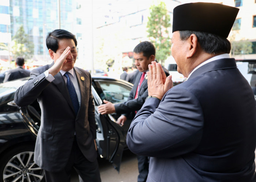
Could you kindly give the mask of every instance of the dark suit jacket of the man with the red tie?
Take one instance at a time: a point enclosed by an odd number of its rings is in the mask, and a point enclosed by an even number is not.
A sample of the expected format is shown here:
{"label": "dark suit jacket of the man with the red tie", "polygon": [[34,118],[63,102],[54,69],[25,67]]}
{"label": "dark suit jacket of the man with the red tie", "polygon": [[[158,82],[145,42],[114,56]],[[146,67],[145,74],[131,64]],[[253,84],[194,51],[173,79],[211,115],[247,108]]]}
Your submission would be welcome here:
{"label": "dark suit jacket of the man with the red tie", "polygon": [[[169,76],[169,71],[165,67],[162,67],[162,68],[165,71],[166,76]],[[135,111],[140,110],[140,108],[143,106],[143,103],[145,102],[145,99],[148,96],[147,79],[143,80],[139,88],[138,98],[134,99],[138,84],[140,82],[141,75],[142,75],[142,72],[136,71],[136,75],[134,75],[134,78],[133,78],[134,85],[132,87],[132,90],[129,94],[127,101],[114,105],[117,114],[125,114],[125,116],[128,117],[129,114],[132,112],[132,116],[134,117]]]}

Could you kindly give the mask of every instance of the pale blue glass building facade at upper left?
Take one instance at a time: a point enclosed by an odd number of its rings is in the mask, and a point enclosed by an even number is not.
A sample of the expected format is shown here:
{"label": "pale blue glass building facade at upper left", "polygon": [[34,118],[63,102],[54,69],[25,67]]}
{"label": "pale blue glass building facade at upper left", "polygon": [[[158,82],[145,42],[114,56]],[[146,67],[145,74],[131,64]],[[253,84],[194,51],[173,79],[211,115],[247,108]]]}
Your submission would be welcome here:
{"label": "pale blue glass building facade at upper left", "polygon": [[[77,1],[60,1],[60,22],[58,13],[59,0],[7,0],[0,3],[0,19],[8,15],[10,24],[0,21],[0,32],[15,35],[21,25],[34,44],[34,55],[48,52],[45,46],[47,33],[54,29],[66,29],[74,34],[77,22]],[[81,23],[81,22],[80,22]],[[1,41],[0,42],[4,42]],[[48,53],[47,53],[48,54]]]}

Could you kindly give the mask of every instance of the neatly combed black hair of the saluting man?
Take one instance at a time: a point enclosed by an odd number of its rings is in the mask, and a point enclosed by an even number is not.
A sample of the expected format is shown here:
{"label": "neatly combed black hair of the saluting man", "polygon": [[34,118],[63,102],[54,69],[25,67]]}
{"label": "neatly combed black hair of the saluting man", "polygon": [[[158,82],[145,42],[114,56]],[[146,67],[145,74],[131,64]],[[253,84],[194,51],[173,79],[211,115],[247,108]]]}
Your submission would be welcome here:
{"label": "neatly combed black hair of the saluting man", "polygon": [[59,48],[59,40],[61,39],[73,39],[75,42],[75,46],[77,46],[76,36],[66,30],[63,29],[56,29],[52,32],[49,32],[46,37],[46,46],[51,49],[53,52]]}

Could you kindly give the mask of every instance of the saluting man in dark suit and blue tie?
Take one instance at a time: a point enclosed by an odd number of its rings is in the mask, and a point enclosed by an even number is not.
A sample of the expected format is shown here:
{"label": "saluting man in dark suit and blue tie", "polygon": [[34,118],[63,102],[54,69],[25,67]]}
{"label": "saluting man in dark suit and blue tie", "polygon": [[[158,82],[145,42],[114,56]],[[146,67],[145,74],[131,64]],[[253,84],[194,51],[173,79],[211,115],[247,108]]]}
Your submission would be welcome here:
{"label": "saluting man in dark suit and blue tie", "polygon": [[14,99],[18,106],[36,99],[40,104],[34,161],[45,170],[47,182],[70,181],[72,167],[80,182],[100,182],[91,75],[74,67],[78,53],[72,33],[49,32],[46,46],[54,62],[32,70]]}

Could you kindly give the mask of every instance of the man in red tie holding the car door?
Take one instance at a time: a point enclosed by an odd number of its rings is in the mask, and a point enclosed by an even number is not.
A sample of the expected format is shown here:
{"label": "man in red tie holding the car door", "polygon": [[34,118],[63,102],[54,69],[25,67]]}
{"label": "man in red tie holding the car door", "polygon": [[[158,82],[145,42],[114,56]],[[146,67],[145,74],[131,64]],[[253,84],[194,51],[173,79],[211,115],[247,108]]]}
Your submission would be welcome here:
{"label": "man in red tie holding the car door", "polygon": [[[151,64],[151,62],[155,60],[154,45],[149,41],[139,43],[133,50],[133,59],[135,59],[135,65],[138,71],[134,76],[134,86],[132,87],[127,101],[124,103],[113,104],[103,100],[105,104],[98,106],[98,111],[101,114],[111,114],[114,112],[117,114],[124,114],[117,119],[117,123],[121,124],[121,126],[127,120],[131,112],[132,117],[135,116],[135,112],[142,107],[148,96],[146,71],[148,70],[148,64]],[[164,69],[165,74],[168,76],[168,70],[166,70],[166,68]],[[138,155],[138,182],[146,181],[148,175],[148,162],[147,156]]]}

